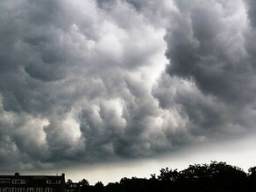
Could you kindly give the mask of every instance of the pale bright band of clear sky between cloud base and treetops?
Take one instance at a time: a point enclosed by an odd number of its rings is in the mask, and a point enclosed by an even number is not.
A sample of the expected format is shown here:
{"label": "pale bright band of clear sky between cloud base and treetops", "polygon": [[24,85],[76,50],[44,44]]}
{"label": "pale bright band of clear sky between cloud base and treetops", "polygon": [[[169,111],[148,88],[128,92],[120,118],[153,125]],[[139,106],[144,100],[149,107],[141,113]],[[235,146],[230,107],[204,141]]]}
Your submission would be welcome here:
{"label": "pale bright band of clear sky between cloud base and treetops", "polygon": [[[248,142],[249,141],[249,142]],[[248,146],[249,144],[249,146]],[[253,153],[253,148],[256,147],[254,138],[249,137],[247,141],[238,140],[236,142],[221,143],[224,148],[219,150],[213,143],[208,143],[207,147],[188,147],[174,154],[160,155],[158,158],[142,159],[137,161],[115,161],[100,164],[91,164],[88,166],[76,165],[70,168],[60,168],[56,170],[40,170],[22,172],[21,175],[61,175],[65,174],[66,181],[71,179],[73,182],[80,182],[82,179],[89,181],[90,185],[96,182],[103,182],[107,185],[109,182],[120,182],[124,177],[132,178],[150,178],[151,174],[160,175],[161,168],[177,168],[179,171],[188,168],[194,164],[210,164],[210,161],[224,161],[231,166],[242,168],[245,173],[248,169],[255,167],[256,154]],[[242,151],[237,151],[235,148],[240,148]],[[190,153],[188,153],[190,151]],[[193,152],[193,153],[191,153]],[[241,156],[245,161],[240,161]]]}

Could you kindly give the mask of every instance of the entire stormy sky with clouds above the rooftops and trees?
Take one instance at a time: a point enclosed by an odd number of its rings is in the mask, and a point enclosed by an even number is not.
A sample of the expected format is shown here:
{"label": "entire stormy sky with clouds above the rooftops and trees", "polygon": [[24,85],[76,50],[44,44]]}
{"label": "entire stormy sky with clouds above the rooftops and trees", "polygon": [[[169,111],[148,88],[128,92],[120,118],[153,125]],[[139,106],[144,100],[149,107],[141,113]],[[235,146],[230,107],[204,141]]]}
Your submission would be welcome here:
{"label": "entire stormy sky with clouds above the rooftops and trees", "polygon": [[2,0],[1,174],[247,171],[255,39],[254,0]]}

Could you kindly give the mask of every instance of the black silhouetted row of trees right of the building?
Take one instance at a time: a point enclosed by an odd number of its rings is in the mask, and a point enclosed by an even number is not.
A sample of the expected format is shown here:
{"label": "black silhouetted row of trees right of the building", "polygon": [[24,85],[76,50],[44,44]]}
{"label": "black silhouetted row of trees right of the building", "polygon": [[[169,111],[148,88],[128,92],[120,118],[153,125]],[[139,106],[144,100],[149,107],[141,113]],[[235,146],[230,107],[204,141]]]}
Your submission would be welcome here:
{"label": "black silhouetted row of trees right of the building", "polygon": [[146,178],[122,178],[120,182],[102,182],[89,185],[83,179],[81,192],[238,192],[256,191],[256,167],[249,168],[248,173],[226,162],[211,161],[210,164],[189,165],[181,171],[161,168],[160,175]]}

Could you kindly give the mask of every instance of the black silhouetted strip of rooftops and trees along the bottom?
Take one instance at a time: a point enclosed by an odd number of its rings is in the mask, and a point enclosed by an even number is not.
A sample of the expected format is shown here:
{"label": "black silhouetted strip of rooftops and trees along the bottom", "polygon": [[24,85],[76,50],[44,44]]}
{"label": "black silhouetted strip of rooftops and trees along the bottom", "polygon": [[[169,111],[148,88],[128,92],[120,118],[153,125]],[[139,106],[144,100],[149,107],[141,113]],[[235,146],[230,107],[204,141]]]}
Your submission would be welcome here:
{"label": "black silhouetted strip of rooftops and trees along the bottom", "polygon": [[[100,177],[100,176],[99,176]],[[0,175],[0,192],[141,192],[141,191],[255,191],[256,167],[248,173],[226,162],[211,161],[210,164],[189,165],[188,168],[162,168],[160,175],[151,178],[122,178],[120,182],[102,182],[89,185],[65,180],[61,175]]]}

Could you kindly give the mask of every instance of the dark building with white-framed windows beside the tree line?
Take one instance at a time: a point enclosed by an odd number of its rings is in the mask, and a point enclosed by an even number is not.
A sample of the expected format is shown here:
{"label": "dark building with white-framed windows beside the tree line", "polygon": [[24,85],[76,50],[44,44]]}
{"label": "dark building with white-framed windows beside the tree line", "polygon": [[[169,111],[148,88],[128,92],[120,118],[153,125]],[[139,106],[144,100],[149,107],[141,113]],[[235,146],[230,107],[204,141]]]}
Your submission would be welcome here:
{"label": "dark building with white-framed windows beside the tree line", "polygon": [[0,175],[0,192],[65,192],[65,175]]}

